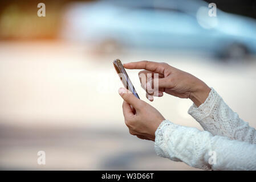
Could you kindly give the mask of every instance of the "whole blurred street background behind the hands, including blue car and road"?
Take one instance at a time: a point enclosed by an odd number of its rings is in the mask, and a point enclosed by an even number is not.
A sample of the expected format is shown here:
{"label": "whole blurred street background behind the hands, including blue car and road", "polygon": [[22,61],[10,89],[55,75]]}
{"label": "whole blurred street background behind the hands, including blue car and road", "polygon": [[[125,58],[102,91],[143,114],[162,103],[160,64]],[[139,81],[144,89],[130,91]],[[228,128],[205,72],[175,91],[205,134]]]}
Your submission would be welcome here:
{"label": "whole blurred street background behind the hands, including blue car and road", "polygon": [[[192,73],[256,127],[255,18],[253,0],[1,1],[0,169],[197,170],[129,135],[112,61]],[[139,71],[127,72],[147,101]],[[187,114],[190,100],[165,95],[150,104],[202,130]]]}

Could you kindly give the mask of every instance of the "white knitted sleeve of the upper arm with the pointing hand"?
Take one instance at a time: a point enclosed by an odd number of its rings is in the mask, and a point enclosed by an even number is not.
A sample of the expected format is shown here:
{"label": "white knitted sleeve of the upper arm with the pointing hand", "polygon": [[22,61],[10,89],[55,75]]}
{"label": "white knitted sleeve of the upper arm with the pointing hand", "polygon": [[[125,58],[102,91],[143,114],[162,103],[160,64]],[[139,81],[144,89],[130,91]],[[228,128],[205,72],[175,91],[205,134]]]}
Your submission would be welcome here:
{"label": "white knitted sleeve of the upper arm with the pointing hand", "polygon": [[239,118],[213,88],[204,104],[193,104],[188,113],[213,135],[256,144],[256,130]]}

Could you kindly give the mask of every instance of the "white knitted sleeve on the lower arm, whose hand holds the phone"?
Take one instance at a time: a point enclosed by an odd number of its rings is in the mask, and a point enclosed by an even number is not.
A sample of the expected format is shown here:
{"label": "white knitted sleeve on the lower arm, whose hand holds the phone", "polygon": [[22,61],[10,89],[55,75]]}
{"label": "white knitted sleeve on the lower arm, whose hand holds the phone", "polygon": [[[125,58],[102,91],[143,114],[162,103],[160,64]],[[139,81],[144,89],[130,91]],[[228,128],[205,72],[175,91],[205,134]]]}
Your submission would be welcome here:
{"label": "white knitted sleeve on the lower arm, whose hand holds the phone", "polygon": [[156,154],[205,170],[256,170],[256,145],[162,121]]}

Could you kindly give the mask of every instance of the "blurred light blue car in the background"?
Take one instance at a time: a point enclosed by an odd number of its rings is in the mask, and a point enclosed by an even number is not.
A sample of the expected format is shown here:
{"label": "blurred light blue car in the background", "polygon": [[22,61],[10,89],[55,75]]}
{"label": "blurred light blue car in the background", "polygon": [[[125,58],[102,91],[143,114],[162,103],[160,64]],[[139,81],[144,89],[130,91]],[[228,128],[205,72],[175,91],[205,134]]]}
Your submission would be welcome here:
{"label": "blurred light blue car in the background", "polygon": [[61,35],[101,53],[132,47],[235,59],[255,54],[256,21],[219,9],[217,16],[209,16],[208,6],[192,0],[73,3],[64,15]]}

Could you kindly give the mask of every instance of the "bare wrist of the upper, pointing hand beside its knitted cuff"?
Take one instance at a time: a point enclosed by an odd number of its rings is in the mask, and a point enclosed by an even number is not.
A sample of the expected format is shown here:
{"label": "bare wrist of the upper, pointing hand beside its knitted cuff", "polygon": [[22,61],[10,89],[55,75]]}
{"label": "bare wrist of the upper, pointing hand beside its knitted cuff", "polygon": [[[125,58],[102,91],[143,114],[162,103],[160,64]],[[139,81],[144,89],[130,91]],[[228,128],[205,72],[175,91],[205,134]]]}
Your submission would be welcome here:
{"label": "bare wrist of the upper, pointing hand beside its knitted cuff", "polygon": [[193,92],[190,92],[189,98],[199,107],[205,102],[206,98],[208,98],[210,90],[209,86],[202,82],[197,85]]}

